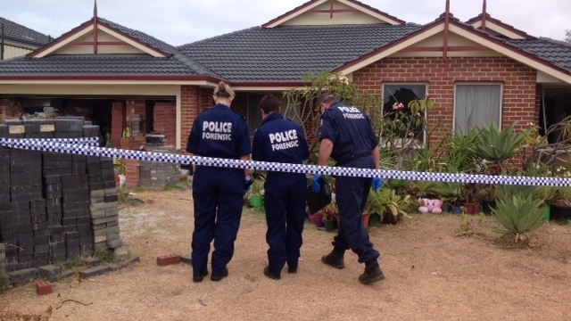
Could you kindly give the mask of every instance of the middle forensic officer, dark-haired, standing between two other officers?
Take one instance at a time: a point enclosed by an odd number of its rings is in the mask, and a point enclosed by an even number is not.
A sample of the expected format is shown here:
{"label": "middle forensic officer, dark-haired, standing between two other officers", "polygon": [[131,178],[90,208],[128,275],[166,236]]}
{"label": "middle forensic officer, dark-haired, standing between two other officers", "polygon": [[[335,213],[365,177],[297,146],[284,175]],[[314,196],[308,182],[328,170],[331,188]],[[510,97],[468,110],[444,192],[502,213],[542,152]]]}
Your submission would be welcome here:
{"label": "middle forensic officer, dark-haired, standing between two other officers", "polygon": [[[279,113],[274,95],[261,99],[263,121],[253,136],[252,160],[302,164],[310,150],[302,128]],[[305,174],[269,171],[264,184],[264,207],[268,231],[269,265],[264,275],[279,279],[287,263],[287,272],[296,273],[305,220],[307,178]]]}

